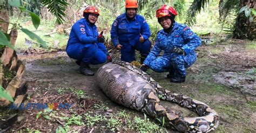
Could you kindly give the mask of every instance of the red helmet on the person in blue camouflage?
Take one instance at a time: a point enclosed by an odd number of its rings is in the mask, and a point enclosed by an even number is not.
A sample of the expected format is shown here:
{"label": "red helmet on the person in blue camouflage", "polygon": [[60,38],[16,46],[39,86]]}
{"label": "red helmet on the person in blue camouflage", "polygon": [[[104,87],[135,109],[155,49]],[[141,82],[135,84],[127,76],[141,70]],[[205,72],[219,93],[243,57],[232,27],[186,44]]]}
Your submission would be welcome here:
{"label": "red helmet on the person in blue camouflage", "polygon": [[166,16],[177,16],[177,12],[172,6],[163,5],[156,11],[156,17],[161,18]]}

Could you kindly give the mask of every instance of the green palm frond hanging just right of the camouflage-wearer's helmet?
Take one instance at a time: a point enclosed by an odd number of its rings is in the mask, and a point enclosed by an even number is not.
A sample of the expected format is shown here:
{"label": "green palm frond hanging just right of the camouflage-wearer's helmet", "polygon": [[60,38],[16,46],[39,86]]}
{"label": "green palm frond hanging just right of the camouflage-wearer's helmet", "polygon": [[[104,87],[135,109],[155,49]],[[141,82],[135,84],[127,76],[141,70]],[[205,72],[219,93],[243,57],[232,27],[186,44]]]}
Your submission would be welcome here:
{"label": "green palm frond hanging just right of the camouflage-wearer's helmet", "polygon": [[196,24],[197,13],[200,13],[202,8],[204,10],[207,4],[209,3],[210,3],[210,0],[194,0],[187,11],[186,24],[190,26],[193,24]]}

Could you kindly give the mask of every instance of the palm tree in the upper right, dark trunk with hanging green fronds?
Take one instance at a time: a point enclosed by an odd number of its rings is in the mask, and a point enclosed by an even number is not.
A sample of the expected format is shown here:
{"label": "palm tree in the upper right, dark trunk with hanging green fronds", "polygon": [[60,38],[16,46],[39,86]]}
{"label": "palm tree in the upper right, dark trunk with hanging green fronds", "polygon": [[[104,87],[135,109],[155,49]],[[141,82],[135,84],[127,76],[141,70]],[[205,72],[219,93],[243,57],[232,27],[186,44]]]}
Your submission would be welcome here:
{"label": "palm tree in the upper right, dark trunk with hanging green fronds", "polygon": [[[194,0],[188,9],[186,23],[192,25],[196,23],[196,14],[205,8],[210,0]],[[237,13],[235,25],[233,26],[233,38],[254,40],[255,31],[255,0],[220,0],[219,14],[220,22],[225,23],[226,17],[232,11]]]}

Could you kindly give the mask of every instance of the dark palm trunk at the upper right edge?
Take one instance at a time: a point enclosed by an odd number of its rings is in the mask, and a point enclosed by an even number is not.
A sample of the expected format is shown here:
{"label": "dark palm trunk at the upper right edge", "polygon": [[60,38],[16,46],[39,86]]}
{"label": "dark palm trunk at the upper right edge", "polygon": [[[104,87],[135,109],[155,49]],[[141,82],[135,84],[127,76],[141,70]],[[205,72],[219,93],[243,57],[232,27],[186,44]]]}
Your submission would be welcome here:
{"label": "dark palm trunk at the upper right edge", "polygon": [[[240,9],[245,5],[250,6],[250,9],[256,10],[255,0],[240,0]],[[256,22],[255,16],[253,16],[253,21],[250,22],[249,18],[245,16],[244,12],[238,14],[235,21],[235,29],[233,31],[233,38],[236,39],[256,39]]]}

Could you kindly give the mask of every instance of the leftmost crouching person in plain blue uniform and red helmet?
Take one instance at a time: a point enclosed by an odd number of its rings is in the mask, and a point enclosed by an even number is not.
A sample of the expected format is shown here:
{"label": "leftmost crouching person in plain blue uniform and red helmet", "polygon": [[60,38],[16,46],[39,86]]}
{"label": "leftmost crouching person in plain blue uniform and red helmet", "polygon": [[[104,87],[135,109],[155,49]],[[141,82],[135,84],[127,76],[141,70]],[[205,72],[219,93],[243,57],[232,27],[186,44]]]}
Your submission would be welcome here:
{"label": "leftmost crouching person in plain blue uniform and red helmet", "polygon": [[71,29],[66,53],[77,60],[80,72],[85,76],[93,76],[90,64],[102,64],[111,60],[106,47],[104,36],[99,35],[95,25],[99,10],[95,6],[88,6],[83,12],[82,19],[78,20]]}

